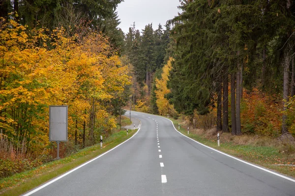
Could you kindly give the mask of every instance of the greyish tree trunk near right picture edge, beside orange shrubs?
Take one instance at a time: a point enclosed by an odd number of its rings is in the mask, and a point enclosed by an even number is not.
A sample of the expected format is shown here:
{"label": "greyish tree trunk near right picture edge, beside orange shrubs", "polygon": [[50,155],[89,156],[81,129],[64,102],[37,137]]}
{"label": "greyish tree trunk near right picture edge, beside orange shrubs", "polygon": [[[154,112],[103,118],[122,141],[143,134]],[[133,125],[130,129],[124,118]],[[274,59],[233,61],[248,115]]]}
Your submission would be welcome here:
{"label": "greyish tree trunk near right picture edge, beside orange shrubs", "polygon": [[[289,71],[290,71],[290,57],[287,54],[285,57],[285,61],[284,61],[284,89],[283,89],[284,101],[289,101],[289,97],[288,97],[289,96]],[[283,101],[283,104],[285,103],[284,101]],[[286,109],[287,109],[287,107],[284,104],[283,111],[286,111]],[[288,133],[286,120],[287,120],[287,115],[283,114],[282,134]]]}

